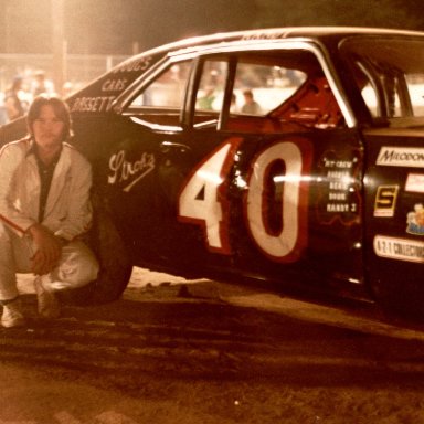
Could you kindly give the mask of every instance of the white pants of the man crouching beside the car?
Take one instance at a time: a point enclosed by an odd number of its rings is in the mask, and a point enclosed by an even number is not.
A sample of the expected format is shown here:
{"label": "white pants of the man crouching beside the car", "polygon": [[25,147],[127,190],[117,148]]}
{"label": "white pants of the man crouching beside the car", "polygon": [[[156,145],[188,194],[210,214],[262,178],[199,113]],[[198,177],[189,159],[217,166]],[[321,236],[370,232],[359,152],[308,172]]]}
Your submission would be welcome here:
{"label": "white pants of the man crouching beside the car", "polygon": [[[30,237],[19,237],[0,222],[0,301],[19,295],[17,273],[31,273],[35,250]],[[82,241],[73,241],[63,246],[59,266],[42,278],[46,289],[63,290],[88,284],[96,279],[97,273],[93,252]]]}

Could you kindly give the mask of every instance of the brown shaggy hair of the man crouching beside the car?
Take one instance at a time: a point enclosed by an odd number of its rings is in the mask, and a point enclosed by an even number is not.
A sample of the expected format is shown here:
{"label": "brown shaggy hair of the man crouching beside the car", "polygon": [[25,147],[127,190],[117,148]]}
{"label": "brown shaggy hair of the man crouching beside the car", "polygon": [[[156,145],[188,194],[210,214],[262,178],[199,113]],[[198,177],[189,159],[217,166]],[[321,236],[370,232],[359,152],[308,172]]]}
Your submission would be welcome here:
{"label": "brown shaggy hair of the man crouching beside the car", "polygon": [[33,136],[32,126],[34,121],[40,117],[41,108],[46,105],[52,106],[57,119],[64,123],[65,126],[63,128],[62,139],[65,141],[71,137],[71,113],[66,103],[54,96],[40,95],[36,96],[31,103],[26,116],[26,125],[30,136]]}

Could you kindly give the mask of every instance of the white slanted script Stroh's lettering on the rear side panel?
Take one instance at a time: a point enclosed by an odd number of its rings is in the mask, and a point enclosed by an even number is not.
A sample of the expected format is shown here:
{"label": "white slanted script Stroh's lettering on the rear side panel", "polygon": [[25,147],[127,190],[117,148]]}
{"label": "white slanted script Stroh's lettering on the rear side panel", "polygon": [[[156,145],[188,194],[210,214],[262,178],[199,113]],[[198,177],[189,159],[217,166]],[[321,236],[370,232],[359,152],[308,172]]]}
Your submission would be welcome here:
{"label": "white slanted script Stroh's lettering on the rear side panel", "polygon": [[142,152],[138,160],[129,161],[126,159],[126,151],[119,150],[109,159],[109,170],[107,182],[116,184],[124,182],[123,191],[129,192],[134,186],[140,182],[148,173],[155,169],[155,155]]}

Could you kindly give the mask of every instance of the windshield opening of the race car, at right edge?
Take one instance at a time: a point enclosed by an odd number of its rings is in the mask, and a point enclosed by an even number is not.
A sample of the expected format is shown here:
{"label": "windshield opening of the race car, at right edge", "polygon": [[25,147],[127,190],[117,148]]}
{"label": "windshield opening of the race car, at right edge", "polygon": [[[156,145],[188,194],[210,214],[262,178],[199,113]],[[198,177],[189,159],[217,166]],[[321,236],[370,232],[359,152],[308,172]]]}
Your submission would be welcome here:
{"label": "windshield opening of the race car, at right edge", "polygon": [[340,47],[374,121],[424,124],[424,41],[361,36]]}

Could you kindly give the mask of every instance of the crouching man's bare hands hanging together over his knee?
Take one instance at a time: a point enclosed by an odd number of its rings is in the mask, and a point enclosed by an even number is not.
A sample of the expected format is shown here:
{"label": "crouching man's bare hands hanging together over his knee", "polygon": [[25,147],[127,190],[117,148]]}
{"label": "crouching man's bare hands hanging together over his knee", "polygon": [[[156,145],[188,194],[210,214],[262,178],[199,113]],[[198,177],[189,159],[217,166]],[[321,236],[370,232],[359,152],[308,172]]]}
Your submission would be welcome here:
{"label": "crouching man's bare hands hanging together over his knee", "polygon": [[56,265],[62,253],[61,241],[45,226],[32,225],[28,233],[34,241],[36,251],[32,256],[32,272],[43,275],[51,272]]}

